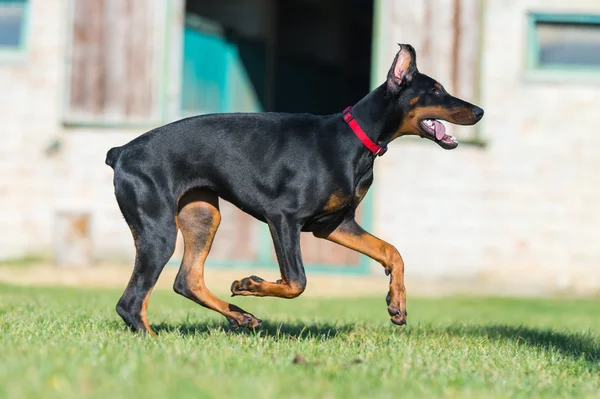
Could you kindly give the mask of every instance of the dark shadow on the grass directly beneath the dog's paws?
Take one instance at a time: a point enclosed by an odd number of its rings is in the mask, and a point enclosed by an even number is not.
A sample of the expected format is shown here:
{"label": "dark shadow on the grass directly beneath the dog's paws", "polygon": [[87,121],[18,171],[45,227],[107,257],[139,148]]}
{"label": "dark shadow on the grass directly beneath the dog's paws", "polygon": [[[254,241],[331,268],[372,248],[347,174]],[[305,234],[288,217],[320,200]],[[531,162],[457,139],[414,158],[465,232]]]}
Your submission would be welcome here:
{"label": "dark shadow on the grass directly beneath the dog's paws", "polygon": [[177,332],[182,335],[196,335],[206,334],[212,331],[227,331],[231,334],[260,335],[262,337],[286,339],[331,339],[336,337],[338,334],[344,334],[352,331],[354,329],[354,326],[352,324],[319,323],[306,325],[302,322],[273,323],[263,321],[262,326],[259,330],[249,331],[245,328],[232,330],[226,326],[226,323],[215,320],[198,323],[184,323],[180,325],[162,323],[153,325],[152,328],[159,335],[162,332]]}

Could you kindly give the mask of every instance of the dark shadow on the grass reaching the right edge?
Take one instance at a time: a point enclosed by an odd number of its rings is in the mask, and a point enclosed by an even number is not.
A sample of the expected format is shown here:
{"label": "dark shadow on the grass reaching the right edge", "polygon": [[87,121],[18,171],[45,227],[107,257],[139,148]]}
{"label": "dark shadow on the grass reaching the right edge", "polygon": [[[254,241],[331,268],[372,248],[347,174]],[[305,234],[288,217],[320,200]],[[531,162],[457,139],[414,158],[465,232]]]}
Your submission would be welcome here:
{"label": "dark shadow on the grass reaching the right edge", "polygon": [[591,333],[566,333],[507,325],[449,327],[445,331],[461,337],[487,337],[496,341],[525,344],[544,351],[556,350],[562,355],[600,366],[600,339]]}

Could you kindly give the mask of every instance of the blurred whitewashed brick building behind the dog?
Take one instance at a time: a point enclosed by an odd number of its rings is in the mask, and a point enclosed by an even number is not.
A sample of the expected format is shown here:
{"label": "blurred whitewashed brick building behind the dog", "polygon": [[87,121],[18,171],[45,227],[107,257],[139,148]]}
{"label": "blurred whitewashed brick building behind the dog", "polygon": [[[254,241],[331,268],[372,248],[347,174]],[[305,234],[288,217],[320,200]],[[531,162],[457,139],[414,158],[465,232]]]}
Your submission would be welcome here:
{"label": "blurred whitewashed brick building behind the dog", "polygon": [[[284,7],[276,1],[223,2],[210,9],[216,16],[202,1],[133,3],[0,3],[0,32],[14,36],[0,33],[0,259],[52,256],[63,234],[57,226],[77,215],[94,259],[132,259],[104,164],[109,148],[188,114],[277,108],[285,96],[269,77],[274,68],[323,79],[321,86],[337,84],[327,73],[343,71],[339,87],[365,73],[351,61],[366,39],[346,40],[352,29],[342,22],[332,28],[335,1],[330,8],[297,1],[324,22],[295,46],[275,43],[288,36],[295,43],[300,34],[272,28],[272,8]],[[383,82],[396,43],[410,43],[421,72],[486,114],[476,128],[454,129],[462,142],[454,151],[394,142],[376,162],[363,223],[398,247],[407,278],[598,292],[600,3],[378,0],[371,7],[372,56],[360,57],[369,60],[371,86]],[[229,33],[228,24],[238,31]],[[316,46],[319,38],[329,47]],[[320,60],[319,73],[269,61],[287,47],[298,51],[287,59]],[[333,244],[303,240],[315,268],[378,270]],[[274,262],[264,226],[226,205],[213,258],[223,267]]]}

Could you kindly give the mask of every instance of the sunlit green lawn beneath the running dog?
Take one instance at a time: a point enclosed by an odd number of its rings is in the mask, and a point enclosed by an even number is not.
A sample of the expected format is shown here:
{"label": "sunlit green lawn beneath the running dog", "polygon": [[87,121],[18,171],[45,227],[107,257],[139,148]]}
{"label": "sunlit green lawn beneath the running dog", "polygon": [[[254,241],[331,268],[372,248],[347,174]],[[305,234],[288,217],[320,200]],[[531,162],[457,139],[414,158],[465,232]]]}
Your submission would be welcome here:
{"label": "sunlit green lawn beneath the running dog", "polygon": [[383,293],[233,298],[265,320],[250,333],[157,291],[153,339],[125,329],[119,295],[0,285],[0,396],[600,397],[597,301],[409,297],[399,328]]}

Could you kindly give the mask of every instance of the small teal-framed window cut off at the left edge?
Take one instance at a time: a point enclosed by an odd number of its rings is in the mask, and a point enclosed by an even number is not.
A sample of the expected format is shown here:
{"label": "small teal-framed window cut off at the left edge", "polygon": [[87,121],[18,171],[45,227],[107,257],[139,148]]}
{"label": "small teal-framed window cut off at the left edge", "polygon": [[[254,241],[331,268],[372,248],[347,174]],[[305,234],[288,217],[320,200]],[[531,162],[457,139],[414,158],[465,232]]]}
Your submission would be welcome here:
{"label": "small teal-framed window cut off at the left edge", "polygon": [[0,51],[24,47],[26,14],[26,0],[0,0]]}

